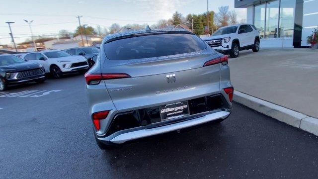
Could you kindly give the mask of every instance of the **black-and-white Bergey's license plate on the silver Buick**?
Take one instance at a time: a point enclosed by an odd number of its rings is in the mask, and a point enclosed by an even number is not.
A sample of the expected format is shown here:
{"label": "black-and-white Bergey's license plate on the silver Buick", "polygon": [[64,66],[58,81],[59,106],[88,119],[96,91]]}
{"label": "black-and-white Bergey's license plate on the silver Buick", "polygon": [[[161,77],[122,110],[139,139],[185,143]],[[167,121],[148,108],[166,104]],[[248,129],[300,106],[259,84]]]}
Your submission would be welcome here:
{"label": "black-and-white Bergey's license plate on the silver Buick", "polygon": [[176,119],[190,114],[188,101],[175,102],[159,107],[161,121]]}

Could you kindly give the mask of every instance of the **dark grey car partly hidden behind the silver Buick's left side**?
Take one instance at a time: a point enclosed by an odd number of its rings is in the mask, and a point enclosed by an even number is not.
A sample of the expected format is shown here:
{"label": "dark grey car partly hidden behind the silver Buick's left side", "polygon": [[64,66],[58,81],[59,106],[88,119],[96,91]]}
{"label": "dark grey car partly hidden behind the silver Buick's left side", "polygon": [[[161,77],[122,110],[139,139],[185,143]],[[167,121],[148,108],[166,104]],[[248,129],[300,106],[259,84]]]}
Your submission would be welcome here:
{"label": "dark grey car partly hidden behind the silver Buick's left side", "polygon": [[69,53],[70,55],[84,56],[88,61],[89,67],[92,67],[95,62],[91,58],[99,53],[99,49],[96,47],[76,47],[66,49],[65,52]]}

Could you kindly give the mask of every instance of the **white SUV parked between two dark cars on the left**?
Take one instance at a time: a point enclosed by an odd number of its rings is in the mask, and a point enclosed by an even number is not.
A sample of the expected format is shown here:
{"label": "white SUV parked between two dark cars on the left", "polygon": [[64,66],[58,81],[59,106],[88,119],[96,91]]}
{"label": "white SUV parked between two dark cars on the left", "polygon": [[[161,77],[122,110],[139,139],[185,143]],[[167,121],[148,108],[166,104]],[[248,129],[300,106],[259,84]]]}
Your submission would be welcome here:
{"label": "white SUV parked between two dark cars on the left", "polygon": [[54,78],[60,78],[65,73],[84,72],[88,69],[86,58],[71,56],[60,50],[43,50],[21,56],[23,59],[41,64],[46,73]]}

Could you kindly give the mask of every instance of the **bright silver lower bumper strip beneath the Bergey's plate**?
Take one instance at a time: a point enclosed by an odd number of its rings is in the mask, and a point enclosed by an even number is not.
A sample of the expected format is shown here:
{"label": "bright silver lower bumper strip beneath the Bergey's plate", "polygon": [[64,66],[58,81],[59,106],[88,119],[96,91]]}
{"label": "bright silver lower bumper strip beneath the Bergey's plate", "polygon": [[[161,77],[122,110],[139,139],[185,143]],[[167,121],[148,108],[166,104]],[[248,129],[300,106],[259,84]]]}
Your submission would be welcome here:
{"label": "bright silver lower bumper strip beneath the Bergey's plate", "polygon": [[180,121],[177,123],[168,124],[168,125],[158,125],[157,127],[152,127],[152,128],[138,127],[135,129],[118,131],[108,137],[100,136],[98,137],[98,140],[105,143],[111,142],[115,144],[122,144],[130,140],[163,134],[163,133],[175,131],[178,129],[184,129],[184,128],[200,125],[200,124],[217,120],[217,119],[225,119],[230,115],[230,113],[231,113],[230,111],[218,111],[214,113],[208,113],[203,116],[195,115],[190,119]]}

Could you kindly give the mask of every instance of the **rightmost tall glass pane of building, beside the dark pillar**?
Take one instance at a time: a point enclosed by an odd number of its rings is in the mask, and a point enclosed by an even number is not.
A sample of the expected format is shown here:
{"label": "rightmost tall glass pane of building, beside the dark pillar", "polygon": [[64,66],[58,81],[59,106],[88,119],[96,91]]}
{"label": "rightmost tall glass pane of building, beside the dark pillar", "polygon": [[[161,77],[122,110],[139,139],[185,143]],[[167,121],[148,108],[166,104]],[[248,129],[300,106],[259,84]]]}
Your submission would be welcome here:
{"label": "rightmost tall glass pane of building, beside the dark pillar", "polygon": [[293,37],[296,0],[281,0],[278,37]]}

